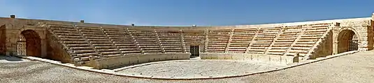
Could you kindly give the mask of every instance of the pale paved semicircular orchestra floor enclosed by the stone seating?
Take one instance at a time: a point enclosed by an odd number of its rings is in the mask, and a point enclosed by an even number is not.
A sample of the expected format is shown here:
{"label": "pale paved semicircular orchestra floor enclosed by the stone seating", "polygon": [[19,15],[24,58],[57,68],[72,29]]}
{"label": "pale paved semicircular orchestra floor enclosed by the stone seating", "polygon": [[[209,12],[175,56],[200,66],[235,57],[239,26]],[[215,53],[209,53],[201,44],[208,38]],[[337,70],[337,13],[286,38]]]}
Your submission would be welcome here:
{"label": "pale paved semicircular orchestra floor enclosed by the stone seating", "polygon": [[[283,65],[285,66],[285,65]],[[280,68],[281,65],[233,60],[178,60],[128,68],[117,73],[152,77],[222,77]]]}

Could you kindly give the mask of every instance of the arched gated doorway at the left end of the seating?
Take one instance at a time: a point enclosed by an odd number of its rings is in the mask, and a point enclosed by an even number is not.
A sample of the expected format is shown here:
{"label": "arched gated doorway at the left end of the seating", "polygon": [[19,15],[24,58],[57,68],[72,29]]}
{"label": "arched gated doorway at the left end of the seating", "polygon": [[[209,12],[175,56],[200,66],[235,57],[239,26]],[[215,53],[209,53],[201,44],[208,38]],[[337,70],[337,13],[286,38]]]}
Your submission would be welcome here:
{"label": "arched gated doorway at the left end of the seating", "polygon": [[[17,47],[20,46],[20,48],[22,48],[22,44],[24,44],[22,43],[22,39],[24,39],[26,45],[23,46],[26,46],[26,55],[41,57],[41,37],[39,37],[38,33],[36,33],[34,30],[24,30],[22,31],[21,35],[20,41],[17,42]],[[22,51],[22,49],[20,49],[20,51]]]}

